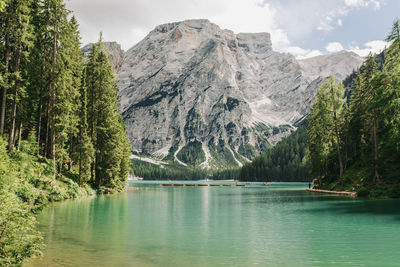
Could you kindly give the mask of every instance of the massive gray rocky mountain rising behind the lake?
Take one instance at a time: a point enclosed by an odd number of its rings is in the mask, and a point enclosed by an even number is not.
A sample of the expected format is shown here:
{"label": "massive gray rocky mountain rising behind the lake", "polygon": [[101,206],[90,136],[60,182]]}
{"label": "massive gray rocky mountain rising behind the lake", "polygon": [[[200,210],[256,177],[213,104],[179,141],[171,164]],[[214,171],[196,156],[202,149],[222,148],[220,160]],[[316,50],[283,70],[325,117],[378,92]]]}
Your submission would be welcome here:
{"label": "massive gray rocky mountain rising behind the lake", "polygon": [[323,77],[343,79],[362,63],[348,52],[299,61],[273,51],[268,33],[234,34],[208,20],[160,25],[121,58],[132,149],[176,158],[201,142],[202,166],[212,167],[241,165],[289,135]]}

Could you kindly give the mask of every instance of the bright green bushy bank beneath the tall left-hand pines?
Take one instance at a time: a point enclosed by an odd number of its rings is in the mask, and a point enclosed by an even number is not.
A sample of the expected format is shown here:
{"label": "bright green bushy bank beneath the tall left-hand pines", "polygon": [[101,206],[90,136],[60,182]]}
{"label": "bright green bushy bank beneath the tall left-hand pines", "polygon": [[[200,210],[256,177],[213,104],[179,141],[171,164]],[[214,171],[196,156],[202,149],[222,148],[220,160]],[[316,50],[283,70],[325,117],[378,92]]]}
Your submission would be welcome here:
{"label": "bright green bushy bank beneath the tall left-hand pines", "polygon": [[74,169],[52,177],[50,160],[36,156],[35,146],[22,141],[20,151],[7,153],[0,137],[0,266],[21,266],[41,255],[42,233],[35,215],[47,204],[95,194],[79,186]]}

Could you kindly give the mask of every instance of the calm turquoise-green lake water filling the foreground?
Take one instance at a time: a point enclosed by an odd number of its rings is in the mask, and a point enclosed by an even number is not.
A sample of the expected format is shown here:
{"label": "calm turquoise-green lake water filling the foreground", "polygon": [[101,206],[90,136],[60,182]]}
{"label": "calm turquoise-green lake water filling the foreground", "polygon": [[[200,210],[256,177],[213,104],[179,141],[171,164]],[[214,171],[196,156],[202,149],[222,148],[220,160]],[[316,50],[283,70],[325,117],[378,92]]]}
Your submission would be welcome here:
{"label": "calm turquoise-green lake water filling the foreground", "polygon": [[130,186],[46,208],[44,257],[27,266],[400,266],[397,200],[302,183]]}

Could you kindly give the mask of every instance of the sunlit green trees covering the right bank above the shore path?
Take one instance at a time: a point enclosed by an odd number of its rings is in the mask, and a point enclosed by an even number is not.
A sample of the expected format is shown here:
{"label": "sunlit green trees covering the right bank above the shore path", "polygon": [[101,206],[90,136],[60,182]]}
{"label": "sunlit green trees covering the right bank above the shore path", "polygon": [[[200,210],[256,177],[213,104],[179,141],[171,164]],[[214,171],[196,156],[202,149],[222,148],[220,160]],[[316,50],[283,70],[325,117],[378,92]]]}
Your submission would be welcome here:
{"label": "sunlit green trees covering the right bank above the shore path", "polygon": [[327,189],[400,197],[400,21],[381,56],[370,54],[348,94],[332,77],[317,93],[308,127],[308,163]]}

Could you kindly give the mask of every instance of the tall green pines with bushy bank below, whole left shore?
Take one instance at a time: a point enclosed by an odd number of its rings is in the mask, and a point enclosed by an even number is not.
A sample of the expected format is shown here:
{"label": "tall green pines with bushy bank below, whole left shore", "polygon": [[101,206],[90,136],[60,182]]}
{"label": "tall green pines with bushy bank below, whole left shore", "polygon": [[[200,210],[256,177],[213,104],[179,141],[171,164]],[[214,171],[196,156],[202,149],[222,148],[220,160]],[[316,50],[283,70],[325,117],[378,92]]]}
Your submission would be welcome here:
{"label": "tall green pines with bushy bank below, whole left shore", "polygon": [[125,187],[130,146],[101,38],[86,63],[63,0],[0,1],[0,265],[40,253],[33,213]]}

